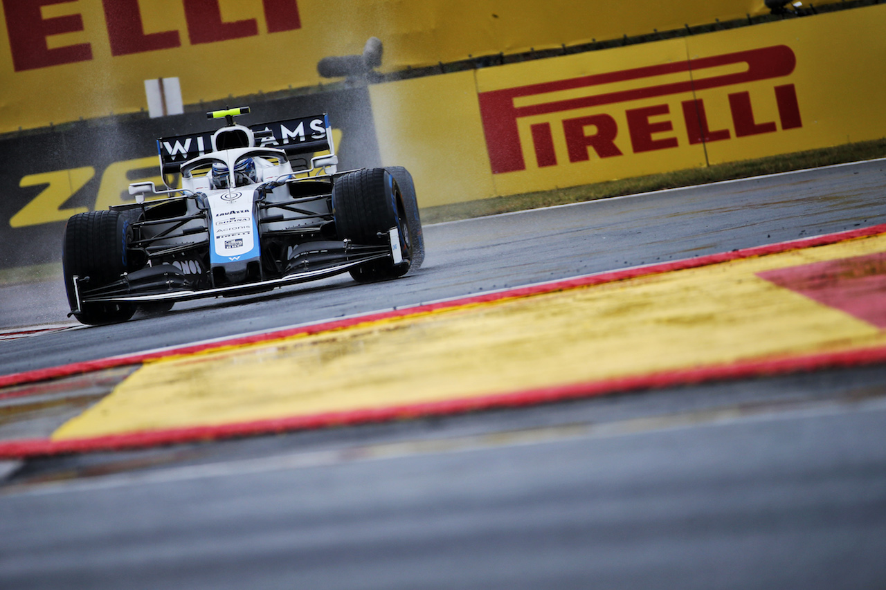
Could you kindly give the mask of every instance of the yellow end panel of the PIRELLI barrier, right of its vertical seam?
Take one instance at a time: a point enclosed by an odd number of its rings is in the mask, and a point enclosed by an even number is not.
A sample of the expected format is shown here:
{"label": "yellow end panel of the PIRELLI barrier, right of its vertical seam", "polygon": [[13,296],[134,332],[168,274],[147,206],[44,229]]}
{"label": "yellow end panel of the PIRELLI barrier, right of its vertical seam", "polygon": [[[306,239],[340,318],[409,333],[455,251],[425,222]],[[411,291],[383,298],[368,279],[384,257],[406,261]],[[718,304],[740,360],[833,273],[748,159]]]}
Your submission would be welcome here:
{"label": "yellow end panel of the PIRELLI barrier, right of its vertical seam", "polygon": [[[694,59],[724,49],[776,44],[788,47],[796,57],[794,69],[780,78],[699,93],[711,130],[731,131],[729,137],[723,134],[722,140],[707,142],[710,163],[886,136],[883,31],[886,6],[879,5],[689,38],[689,55]],[[750,103],[744,126],[748,133],[739,136],[734,104],[742,100]]]}

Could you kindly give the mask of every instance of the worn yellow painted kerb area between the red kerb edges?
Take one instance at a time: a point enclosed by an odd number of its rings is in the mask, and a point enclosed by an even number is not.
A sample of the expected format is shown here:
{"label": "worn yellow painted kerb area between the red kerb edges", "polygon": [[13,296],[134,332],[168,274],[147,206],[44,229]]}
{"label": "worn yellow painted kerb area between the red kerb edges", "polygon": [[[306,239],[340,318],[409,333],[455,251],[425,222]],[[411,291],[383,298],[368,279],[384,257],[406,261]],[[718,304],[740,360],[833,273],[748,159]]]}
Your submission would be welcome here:
{"label": "worn yellow painted kerb area between the red kerb edges", "polygon": [[757,276],[873,252],[886,252],[886,237],[155,361],[53,438],[420,404],[884,345],[886,333],[875,326]]}

